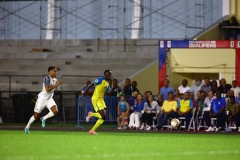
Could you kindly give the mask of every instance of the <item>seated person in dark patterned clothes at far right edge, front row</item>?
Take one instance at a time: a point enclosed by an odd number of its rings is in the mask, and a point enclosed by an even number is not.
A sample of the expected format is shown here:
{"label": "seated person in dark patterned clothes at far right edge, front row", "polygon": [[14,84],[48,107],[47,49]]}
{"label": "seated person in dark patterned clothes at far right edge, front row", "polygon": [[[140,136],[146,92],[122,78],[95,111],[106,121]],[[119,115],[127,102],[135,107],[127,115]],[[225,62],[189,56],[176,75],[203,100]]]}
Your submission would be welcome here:
{"label": "seated person in dark patterned clothes at far right edge, front row", "polygon": [[227,103],[226,112],[228,125],[229,122],[233,120],[236,124],[238,132],[240,132],[240,104],[235,101],[235,96],[230,96],[230,101]]}

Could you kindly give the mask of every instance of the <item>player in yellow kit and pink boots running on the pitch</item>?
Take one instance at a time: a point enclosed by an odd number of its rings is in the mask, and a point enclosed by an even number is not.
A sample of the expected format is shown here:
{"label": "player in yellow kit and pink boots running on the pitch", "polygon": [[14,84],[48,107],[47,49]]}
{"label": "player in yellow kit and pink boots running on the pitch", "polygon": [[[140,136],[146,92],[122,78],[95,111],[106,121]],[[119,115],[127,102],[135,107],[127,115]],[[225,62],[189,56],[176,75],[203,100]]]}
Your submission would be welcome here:
{"label": "player in yellow kit and pink boots running on the pitch", "polygon": [[112,73],[110,70],[104,71],[104,77],[97,78],[94,82],[92,82],[83,93],[87,94],[89,88],[95,85],[95,90],[92,96],[92,104],[95,112],[88,112],[88,116],[86,117],[86,122],[90,120],[91,117],[97,117],[98,120],[93,128],[88,132],[89,134],[96,134],[96,129],[104,122],[106,119],[106,104],[104,102],[104,95],[106,93],[110,94],[112,92],[108,80],[111,79]]}

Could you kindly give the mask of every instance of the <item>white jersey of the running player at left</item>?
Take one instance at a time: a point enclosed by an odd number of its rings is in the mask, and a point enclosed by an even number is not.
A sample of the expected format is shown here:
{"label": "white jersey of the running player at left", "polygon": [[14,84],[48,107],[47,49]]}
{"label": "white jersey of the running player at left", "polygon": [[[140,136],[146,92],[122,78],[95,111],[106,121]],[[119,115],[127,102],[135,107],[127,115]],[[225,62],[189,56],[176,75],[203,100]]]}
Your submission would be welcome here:
{"label": "white jersey of the running player at left", "polygon": [[50,99],[53,97],[54,94],[54,90],[52,89],[51,91],[47,92],[45,86],[53,86],[57,83],[57,79],[56,78],[51,78],[50,76],[45,76],[43,79],[43,89],[42,91],[38,94],[38,97],[43,97],[46,99]]}

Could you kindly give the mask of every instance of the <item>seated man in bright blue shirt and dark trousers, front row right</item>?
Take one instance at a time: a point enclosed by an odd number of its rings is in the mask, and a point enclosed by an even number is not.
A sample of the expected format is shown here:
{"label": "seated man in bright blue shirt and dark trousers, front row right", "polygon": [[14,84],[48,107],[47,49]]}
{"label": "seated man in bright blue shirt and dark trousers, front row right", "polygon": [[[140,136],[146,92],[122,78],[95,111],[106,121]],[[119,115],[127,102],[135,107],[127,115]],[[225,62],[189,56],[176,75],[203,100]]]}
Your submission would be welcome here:
{"label": "seated man in bright blue shirt and dark trousers, front row right", "polygon": [[216,131],[225,131],[225,120],[226,120],[226,102],[223,97],[221,97],[221,92],[216,92],[216,98],[212,100],[210,112],[204,112],[203,119],[208,126],[206,132],[214,131],[211,126],[211,118],[217,118],[217,128]]}

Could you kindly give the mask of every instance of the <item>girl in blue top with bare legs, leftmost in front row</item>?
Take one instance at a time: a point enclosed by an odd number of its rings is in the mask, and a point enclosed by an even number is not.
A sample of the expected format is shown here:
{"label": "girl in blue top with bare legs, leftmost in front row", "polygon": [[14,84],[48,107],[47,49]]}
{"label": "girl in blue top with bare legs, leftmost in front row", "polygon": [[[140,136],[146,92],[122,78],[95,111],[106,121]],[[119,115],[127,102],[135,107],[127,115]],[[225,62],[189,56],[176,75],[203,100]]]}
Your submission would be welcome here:
{"label": "girl in blue top with bare legs, leftmost in front row", "polygon": [[120,101],[118,103],[118,129],[127,129],[128,117],[129,117],[130,106],[126,100],[125,95],[120,96]]}

